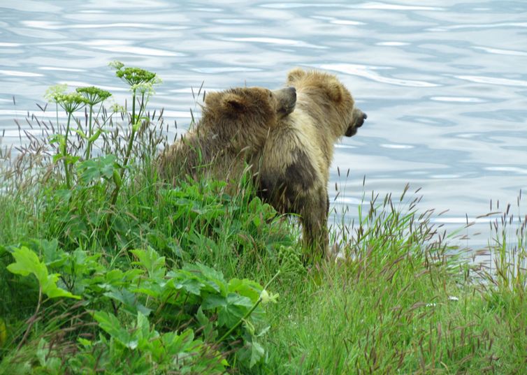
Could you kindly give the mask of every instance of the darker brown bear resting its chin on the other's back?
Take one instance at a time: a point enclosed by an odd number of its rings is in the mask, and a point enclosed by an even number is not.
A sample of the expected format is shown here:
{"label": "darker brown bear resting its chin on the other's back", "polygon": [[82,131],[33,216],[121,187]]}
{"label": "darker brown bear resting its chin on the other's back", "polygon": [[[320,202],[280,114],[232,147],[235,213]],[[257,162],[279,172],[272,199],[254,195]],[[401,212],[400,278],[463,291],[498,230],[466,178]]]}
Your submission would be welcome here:
{"label": "darker brown bear resting its chin on the other's back", "polygon": [[[212,176],[238,184],[244,168],[265,144],[268,134],[295,107],[292,87],[269,90],[238,87],[205,96],[201,120],[158,161],[161,178]],[[232,191],[232,189],[231,189]]]}

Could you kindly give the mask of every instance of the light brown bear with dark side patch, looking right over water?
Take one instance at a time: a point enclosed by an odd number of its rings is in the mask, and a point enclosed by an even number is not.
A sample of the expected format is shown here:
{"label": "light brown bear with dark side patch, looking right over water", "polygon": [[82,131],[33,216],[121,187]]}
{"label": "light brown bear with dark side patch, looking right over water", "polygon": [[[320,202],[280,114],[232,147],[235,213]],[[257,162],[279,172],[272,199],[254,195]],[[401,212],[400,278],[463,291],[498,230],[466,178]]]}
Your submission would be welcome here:
{"label": "light brown bear with dark side patch, looking right over water", "polygon": [[286,85],[296,88],[296,108],[270,131],[253,159],[259,163],[259,195],[278,212],[300,216],[304,249],[321,258],[329,256],[333,145],[354,135],[367,116],[334,75],[295,68]]}

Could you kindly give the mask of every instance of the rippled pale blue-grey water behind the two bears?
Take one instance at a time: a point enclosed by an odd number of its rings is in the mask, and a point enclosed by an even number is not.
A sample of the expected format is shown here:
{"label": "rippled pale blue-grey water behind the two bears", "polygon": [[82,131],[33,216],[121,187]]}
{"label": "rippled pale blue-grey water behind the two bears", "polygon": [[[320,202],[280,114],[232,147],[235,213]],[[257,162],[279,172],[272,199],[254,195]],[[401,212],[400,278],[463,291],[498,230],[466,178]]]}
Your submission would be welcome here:
{"label": "rippled pale blue-grey water behind the two bears", "polygon": [[[157,72],[164,83],[152,108],[181,128],[201,82],[275,88],[294,66],[335,73],[368,113],[331,172],[331,186],[346,186],[336,202],[352,216],[365,175],[366,192],[382,196],[421,188],[420,207],[449,209],[435,221],[456,228],[489,212],[490,200],[503,209],[527,190],[525,1],[3,0],[3,144],[18,142],[13,118],[40,112],[52,84],[124,98],[113,60]],[[525,203],[517,211],[526,214]],[[488,220],[471,230],[485,233]]]}

